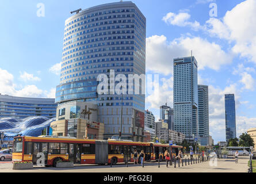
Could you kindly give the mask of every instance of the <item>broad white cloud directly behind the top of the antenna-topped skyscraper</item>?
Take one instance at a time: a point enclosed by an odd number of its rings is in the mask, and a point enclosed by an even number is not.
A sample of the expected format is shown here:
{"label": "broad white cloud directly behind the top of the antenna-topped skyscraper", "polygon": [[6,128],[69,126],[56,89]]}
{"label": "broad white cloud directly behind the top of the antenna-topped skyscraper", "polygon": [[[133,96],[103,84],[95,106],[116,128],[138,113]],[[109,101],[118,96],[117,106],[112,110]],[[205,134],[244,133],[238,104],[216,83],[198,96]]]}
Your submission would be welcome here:
{"label": "broad white cloud directly behind the top of the antenna-topped skyscraper", "polygon": [[190,56],[191,50],[197,59],[198,70],[205,67],[219,70],[221,65],[232,63],[230,53],[201,37],[180,37],[169,43],[164,35],[154,35],[147,38],[146,49],[146,69],[165,75],[173,73],[174,58]]}

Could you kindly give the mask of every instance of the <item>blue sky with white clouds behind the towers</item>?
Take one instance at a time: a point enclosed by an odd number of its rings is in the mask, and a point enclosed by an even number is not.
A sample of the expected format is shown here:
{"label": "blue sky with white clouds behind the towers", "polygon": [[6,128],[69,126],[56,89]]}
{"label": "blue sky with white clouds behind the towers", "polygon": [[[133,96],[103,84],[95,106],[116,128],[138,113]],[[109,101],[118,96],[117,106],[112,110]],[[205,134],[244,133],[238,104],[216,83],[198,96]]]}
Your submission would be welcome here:
{"label": "blue sky with white clouds behind the towers", "polygon": [[[54,97],[59,84],[64,21],[70,11],[116,1],[3,1],[0,11],[0,93]],[[173,58],[198,62],[198,83],[209,85],[210,132],[225,140],[224,94],[235,93],[237,134],[256,127],[256,1],[133,1],[147,18],[147,74],[158,74],[160,93],[146,109],[173,107]],[[37,17],[37,4],[45,16]],[[217,6],[210,17],[209,5]]]}

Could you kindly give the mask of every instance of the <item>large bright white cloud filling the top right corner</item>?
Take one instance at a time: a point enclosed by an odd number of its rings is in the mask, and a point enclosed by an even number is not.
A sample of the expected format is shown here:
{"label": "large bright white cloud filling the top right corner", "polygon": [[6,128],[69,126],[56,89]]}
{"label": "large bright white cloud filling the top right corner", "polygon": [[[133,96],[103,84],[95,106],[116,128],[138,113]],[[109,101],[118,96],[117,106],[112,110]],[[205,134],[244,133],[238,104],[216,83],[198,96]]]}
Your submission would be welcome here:
{"label": "large bright white cloud filling the top right corner", "polygon": [[211,35],[234,42],[232,51],[256,63],[256,1],[247,0],[227,11],[221,19],[211,18],[206,27]]}

